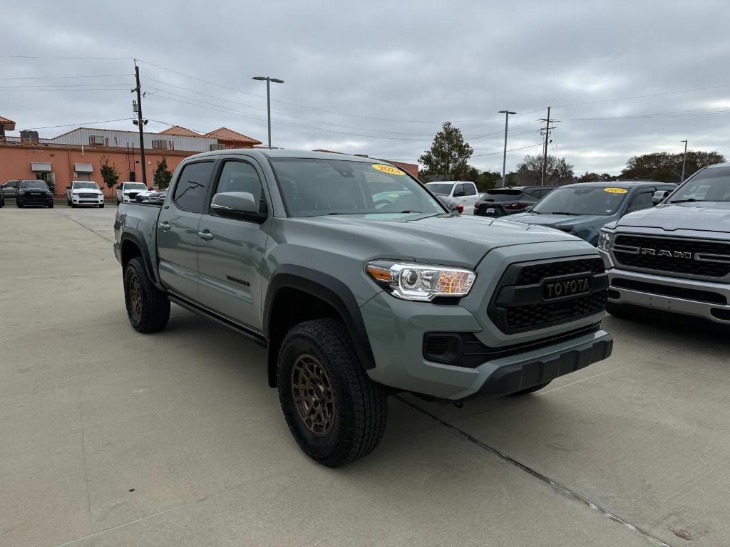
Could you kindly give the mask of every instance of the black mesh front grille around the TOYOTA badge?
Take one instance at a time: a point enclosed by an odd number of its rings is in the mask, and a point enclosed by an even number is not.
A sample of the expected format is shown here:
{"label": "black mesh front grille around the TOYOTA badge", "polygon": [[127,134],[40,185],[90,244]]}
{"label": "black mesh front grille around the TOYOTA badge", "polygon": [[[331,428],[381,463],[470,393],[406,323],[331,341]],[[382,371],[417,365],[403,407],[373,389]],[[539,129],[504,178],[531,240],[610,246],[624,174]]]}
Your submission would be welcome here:
{"label": "black mesh front grille around the TOYOTA badge", "polygon": [[[591,278],[591,290],[547,300],[542,282],[580,274]],[[601,258],[512,264],[500,279],[488,316],[507,334],[560,325],[606,308],[608,276]]]}

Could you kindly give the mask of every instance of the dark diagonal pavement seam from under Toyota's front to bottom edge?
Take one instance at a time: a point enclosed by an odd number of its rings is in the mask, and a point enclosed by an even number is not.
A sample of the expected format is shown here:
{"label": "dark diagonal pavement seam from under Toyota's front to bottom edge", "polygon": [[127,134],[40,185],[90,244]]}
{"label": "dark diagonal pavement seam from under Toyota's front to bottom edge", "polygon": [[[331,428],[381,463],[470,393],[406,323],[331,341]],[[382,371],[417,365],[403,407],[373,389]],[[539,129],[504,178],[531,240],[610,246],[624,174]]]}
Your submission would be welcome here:
{"label": "dark diagonal pavement seam from under Toyota's front to bottom edge", "polygon": [[502,459],[502,461],[507,462],[508,464],[514,466],[515,468],[518,468],[520,470],[523,470],[525,473],[533,476],[534,478],[537,478],[537,480],[542,481],[545,484],[548,484],[548,486],[552,487],[553,490],[558,492],[558,494],[563,495],[564,497],[567,497],[571,500],[577,501],[578,503],[581,503],[583,505],[588,506],[591,511],[596,511],[596,513],[599,513],[608,519],[611,519],[614,522],[617,522],[618,524],[621,524],[621,526],[626,527],[631,530],[631,532],[634,532],[635,534],[641,536],[645,540],[648,540],[650,543],[657,547],[672,547],[669,545],[669,543],[664,543],[661,539],[657,538],[655,535],[653,535],[651,532],[648,532],[645,529],[637,527],[635,524],[631,524],[629,521],[626,521],[625,519],[622,519],[620,516],[615,515],[608,511],[606,508],[601,507],[600,505],[593,503],[591,500],[588,500],[588,498],[583,497],[581,494],[578,494],[577,492],[574,492],[573,490],[569,489],[567,486],[564,486],[563,484],[560,484],[557,481],[553,481],[552,478],[543,475],[537,470],[534,470],[533,468],[530,468],[529,466],[518,462],[516,459],[507,456],[507,454],[504,454],[504,452],[499,451],[498,449],[494,448],[493,446],[489,446],[487,443],[484,443],[483,441],[480,441],[476,437],[469,435],[464,430],[460,430],[458,427],[456,427],[453,424],[450,424],[449,422],[446,422],[445,420],[439,418],[435,414],[431,414],[431,412],[425,410],[424,408],[420,408],[420,406],[411,403],[410,401],[405,400],[400,395],[396,395],[395,398],[399,400],[401,403],[404,403],[407,406],[410,406],[415,411],[420,412],[421,414],[424,414],[426,416],[429,416],[432,420],[435,422],[438,422],[444,427],[447,427],[448,429],[452,430],[453,432],[456,432],[457,435],[460,435],[462,438],[466,439],[466,441],[469,441],[472,444],[475,444],[480,449],[483,449],[485,451],[488,451],[491,454],[494,454],[499,459]]}

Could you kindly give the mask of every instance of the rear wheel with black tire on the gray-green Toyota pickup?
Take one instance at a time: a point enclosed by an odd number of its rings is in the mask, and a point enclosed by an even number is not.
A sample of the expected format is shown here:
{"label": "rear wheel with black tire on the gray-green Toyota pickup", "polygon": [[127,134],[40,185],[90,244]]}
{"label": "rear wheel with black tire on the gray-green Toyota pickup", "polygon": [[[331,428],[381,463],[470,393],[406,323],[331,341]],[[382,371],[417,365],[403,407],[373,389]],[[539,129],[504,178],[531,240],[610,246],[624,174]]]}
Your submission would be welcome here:
{"label": "rear wheel with black tire on the gray-green Toyota pickup", "polygon": [[156,333],[170,318],[166,293],[155,287],[139,257],[129,260],[124,268],[124,303],[129,324],[139,333]]}

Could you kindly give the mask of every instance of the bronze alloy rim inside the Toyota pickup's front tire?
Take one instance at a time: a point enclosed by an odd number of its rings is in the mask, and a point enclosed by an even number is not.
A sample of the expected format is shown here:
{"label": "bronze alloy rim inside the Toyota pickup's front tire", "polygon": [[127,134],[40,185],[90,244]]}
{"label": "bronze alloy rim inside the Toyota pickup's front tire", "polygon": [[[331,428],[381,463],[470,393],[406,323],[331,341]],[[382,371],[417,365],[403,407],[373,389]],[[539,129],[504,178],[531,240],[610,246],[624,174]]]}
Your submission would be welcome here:
{"label": "bronze alloy rim inside the Toyota pickup's front tire", "polygon": [[320,362],[312,355],[297,357],[291,368],[291,395],[299,418],[314,435],[323,437],[334,424],[332,384]]}

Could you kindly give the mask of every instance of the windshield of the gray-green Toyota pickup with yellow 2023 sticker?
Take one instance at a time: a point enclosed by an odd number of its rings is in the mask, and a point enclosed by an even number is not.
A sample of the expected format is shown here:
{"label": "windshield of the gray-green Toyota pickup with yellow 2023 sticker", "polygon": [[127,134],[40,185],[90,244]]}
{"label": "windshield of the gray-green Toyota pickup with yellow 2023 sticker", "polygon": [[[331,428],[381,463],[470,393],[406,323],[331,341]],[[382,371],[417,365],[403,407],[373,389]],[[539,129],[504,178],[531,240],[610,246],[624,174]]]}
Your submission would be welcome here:
{"label": "windshield of the gray-green Toyota pickup with yellow 2023 sticker", "polygon": [[418,181],[383,163],[275,158],[272,167],[290,217],[446,212]]}

